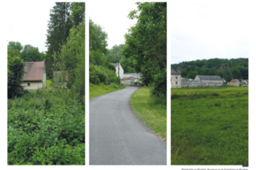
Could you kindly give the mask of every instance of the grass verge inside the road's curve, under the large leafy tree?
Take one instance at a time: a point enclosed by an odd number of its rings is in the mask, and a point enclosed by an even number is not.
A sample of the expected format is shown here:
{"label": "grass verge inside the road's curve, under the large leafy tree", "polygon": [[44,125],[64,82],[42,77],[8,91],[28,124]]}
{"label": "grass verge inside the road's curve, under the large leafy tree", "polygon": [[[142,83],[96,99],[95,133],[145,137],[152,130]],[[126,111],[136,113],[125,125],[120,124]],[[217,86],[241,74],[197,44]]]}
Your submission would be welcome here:
{"label": "grass verge inside the road's curve, under the large leafy tree", "polygon": [[150,88],[140,87],[132,94],[130,105],[145,125],[166,140],[166,104],[156,104],[149,97]]}

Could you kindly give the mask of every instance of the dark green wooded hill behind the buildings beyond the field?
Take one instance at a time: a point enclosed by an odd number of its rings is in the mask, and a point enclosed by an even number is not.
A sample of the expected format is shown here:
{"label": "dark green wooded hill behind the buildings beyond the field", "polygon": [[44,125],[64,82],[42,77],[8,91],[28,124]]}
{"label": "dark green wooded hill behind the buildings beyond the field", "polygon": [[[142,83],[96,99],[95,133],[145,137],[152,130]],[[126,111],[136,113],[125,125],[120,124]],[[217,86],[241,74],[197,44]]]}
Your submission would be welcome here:
{"label": "dark green wooded hill behind the buildings beyond the field", "polygon": [[181,77],[195,79],[198,75],[220,75],[226,81],[232,79],[248,79],[248,58],[211,58],[195,61],[183,61],[171,66],[173,70],[180,71]]}

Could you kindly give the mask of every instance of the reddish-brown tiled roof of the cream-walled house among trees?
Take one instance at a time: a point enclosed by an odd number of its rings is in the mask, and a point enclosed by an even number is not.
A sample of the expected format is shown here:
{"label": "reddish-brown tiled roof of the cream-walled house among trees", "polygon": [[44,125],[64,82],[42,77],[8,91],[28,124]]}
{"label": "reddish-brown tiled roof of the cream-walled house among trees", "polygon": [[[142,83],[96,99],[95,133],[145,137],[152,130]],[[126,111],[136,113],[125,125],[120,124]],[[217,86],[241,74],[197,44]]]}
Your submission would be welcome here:
{"label": "reddish-brown tiled roof of the cream-walled house among trees", "polygon": [[25,62],[23,81],[43,81],[44,61]]}

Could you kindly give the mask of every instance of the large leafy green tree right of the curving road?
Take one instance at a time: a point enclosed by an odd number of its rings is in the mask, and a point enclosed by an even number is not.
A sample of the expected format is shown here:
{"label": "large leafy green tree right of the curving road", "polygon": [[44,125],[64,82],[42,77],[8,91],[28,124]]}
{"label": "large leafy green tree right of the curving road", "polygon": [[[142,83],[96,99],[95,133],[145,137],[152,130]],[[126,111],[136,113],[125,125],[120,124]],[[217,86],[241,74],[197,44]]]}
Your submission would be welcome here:
{"label": "large leafy green tree right of the curving road", "polygon": [[[142,81],[152,85],[156,97],[166,95],[166,3],[136,3],[138,10],[129,14],[138,19],[124,35],[123,54],[131,58]],[[162,94],[162,95],[161,95]]]}

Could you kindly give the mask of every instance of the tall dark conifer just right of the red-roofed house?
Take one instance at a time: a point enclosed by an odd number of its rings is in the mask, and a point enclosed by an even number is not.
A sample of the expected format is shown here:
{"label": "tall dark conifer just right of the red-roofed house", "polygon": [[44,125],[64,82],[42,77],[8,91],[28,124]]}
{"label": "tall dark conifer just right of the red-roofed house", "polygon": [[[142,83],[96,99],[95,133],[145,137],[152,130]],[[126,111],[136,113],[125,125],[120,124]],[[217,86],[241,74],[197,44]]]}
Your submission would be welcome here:
{"label": "tall dark conifer just right of the red-roofed house", "polygon": [[48,47],[45,67],[49,78],[52,78],[52,54],[60,51],[60,45],[66,43],[72,22],[69,19],[70,3],[55,3],[50,10],[50,21],[48,21],[46,47]]}

